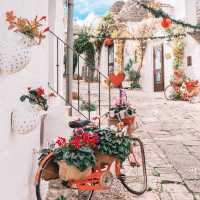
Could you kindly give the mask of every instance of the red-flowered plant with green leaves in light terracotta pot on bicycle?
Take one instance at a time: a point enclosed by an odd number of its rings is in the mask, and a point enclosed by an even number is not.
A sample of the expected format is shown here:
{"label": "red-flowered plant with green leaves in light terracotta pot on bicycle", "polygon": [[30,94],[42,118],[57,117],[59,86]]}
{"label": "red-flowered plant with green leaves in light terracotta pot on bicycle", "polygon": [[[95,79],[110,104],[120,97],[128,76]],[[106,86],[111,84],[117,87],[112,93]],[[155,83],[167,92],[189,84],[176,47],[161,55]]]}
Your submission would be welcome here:
{"label": "red-flowered plant with green leaves in light terracotta pot on bicycle", "polygon": [[59,137],[50,148],[43,149],[40,159],[52,151],[55,155],[54,162],[59,165],[59,177],[62,180],[84,179],[96,165],[94,149],[97,143],[96,133],[76,129],[68,143],[66,138]]}

